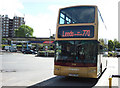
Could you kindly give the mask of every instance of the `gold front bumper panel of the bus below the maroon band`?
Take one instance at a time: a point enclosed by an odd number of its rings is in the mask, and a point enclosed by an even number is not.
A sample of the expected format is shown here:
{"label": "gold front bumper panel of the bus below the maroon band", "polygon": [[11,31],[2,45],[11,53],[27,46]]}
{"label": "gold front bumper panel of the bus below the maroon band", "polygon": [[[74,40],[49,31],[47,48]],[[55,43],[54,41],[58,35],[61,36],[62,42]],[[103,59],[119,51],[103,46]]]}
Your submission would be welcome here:
{"label": "gold front bumper panel of the bus below the maroon band", "polygon": [[67,67],[55,65],[54,75],[98,78],[97,67]]}

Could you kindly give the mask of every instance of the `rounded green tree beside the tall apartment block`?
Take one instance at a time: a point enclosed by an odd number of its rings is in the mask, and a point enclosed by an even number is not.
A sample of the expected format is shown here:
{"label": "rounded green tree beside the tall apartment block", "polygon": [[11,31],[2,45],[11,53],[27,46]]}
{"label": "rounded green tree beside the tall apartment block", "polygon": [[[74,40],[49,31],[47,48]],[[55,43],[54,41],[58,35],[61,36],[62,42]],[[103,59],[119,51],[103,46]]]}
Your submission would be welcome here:
{"label": "rounded green tree beside the tall apartment block", "polygon": [[15,37],[33,37],[33,28],[27,25],[21,25],[18,29],[15,29]]}

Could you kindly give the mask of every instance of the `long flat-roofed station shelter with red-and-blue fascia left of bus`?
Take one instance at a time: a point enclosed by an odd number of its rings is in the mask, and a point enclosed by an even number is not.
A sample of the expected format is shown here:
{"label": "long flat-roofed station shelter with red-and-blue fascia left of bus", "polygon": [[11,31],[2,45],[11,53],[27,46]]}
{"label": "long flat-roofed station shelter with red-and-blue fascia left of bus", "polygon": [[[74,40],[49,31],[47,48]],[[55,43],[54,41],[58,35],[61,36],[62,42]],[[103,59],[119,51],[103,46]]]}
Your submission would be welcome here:
{"label": "long flat-roofed station shelter with red-and-blue fascia left of bus", "polygon": [[39,46],[54,46],[54,38],[36,38],[36,37],[23,37],[23,38],[6,38],[11,42],[10,46],[16,44],[19,50],[21,49],[31,49],[33,46],[39,51]]}

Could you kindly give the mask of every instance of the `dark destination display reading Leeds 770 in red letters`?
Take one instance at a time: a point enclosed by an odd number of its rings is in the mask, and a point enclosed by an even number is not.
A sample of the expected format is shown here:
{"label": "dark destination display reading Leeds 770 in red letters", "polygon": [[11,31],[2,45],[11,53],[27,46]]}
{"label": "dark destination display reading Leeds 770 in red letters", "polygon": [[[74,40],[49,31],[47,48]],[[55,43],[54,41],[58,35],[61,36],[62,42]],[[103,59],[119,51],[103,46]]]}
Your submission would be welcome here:
{"label": "dark destination display reading Leeds 770 in red letters", "polygon": [[93,38],[94,26],[64,26],[58,28],[58,38]]}

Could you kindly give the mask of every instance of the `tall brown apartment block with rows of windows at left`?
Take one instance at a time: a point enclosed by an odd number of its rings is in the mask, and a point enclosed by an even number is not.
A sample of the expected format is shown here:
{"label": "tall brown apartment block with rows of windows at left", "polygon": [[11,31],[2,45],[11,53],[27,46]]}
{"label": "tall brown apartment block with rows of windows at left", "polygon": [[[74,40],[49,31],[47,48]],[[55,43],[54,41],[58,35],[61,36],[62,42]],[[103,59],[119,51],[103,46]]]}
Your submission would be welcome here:
{"label": "tall brown apartment block with rows of windows at left", "polygon": [[14,37],[15,29],[25,24],[24,17],[14,16],[10,19],[8,15],[1,15],[2,19],[2,37]]}

